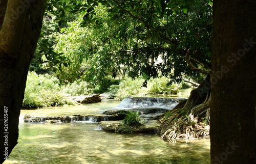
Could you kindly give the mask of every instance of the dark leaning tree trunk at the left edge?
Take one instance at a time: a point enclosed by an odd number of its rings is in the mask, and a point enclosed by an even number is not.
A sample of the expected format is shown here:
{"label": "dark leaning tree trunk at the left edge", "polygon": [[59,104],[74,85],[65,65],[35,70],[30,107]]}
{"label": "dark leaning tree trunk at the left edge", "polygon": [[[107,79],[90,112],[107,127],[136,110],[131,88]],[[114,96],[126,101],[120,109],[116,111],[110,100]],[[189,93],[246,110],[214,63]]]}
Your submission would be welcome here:
{"label": "dark leaning tree trunk at the left edge", "polygon": [[[1,3],[2,2],[2,3]],[[0,151],[2,163],[18,139],[18,118],[45,0],[0,2]]]}

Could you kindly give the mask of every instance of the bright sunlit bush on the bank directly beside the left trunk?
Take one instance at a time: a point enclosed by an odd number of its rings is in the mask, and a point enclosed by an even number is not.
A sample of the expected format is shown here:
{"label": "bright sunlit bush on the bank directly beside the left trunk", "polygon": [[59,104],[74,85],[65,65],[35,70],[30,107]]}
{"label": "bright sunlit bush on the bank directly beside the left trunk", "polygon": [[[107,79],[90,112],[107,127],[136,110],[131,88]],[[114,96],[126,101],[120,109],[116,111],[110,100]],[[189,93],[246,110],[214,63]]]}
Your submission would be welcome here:
{"label": "bright sunlit bush on the bank directly beside the left trunk", "polygon": [[24,108],[36,108],[58,105],[74,105],[68,100],[64,93],[59,91],[58,80],[56,77],[37,75],[29,72],[25,96],[23,100]]}

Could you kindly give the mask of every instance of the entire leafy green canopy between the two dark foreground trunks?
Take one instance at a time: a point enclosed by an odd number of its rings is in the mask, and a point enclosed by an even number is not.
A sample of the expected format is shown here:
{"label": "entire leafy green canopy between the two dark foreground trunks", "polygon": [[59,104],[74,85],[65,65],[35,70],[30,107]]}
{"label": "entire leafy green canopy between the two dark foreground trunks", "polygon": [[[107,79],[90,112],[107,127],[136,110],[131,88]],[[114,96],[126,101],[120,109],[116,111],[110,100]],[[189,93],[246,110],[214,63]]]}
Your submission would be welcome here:
{"label": "entire leafy green canopy between the two dark foreground trunks", "polygon": [[55,34],[42,39],[41,62],[60,85],[82,79],[98,92],[123,73],[145,80],[160,73],[170,83],[196,78],[191,64],[210,68],[211,5],[206,0],[48,1],[46,17],[52,18],[46,24],[54,24]]}

